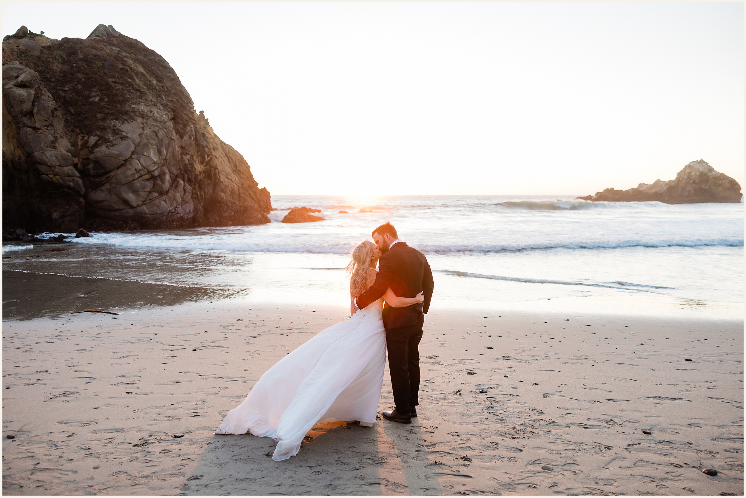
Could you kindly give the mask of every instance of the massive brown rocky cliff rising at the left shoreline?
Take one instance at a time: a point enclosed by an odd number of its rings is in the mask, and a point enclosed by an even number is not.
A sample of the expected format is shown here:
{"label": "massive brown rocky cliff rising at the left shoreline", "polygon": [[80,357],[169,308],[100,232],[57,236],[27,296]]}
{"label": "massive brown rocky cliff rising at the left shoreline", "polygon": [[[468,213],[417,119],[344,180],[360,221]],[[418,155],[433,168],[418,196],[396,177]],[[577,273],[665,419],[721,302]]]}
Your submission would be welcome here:
{"label": "massive brown rocky cliff rising at the left shoreline", "polygon": [[269,192],[169,63],[99,25],[3,40],[4,228],[74,232],[269,223]]}

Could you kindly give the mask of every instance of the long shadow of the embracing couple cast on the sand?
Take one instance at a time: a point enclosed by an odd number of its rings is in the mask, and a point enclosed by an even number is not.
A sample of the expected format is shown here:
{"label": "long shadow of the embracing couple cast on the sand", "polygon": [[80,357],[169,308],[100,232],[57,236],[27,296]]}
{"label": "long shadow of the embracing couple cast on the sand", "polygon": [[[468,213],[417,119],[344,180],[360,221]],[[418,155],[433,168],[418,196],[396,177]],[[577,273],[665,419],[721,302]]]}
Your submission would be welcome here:
{"label": "long shadow of the embracing couple cast on the sand", "polygon": [[273,461],[274,450],[272,439],[214,435],[181,494],[442,494],[416,423],[319,424],[297,456]]}

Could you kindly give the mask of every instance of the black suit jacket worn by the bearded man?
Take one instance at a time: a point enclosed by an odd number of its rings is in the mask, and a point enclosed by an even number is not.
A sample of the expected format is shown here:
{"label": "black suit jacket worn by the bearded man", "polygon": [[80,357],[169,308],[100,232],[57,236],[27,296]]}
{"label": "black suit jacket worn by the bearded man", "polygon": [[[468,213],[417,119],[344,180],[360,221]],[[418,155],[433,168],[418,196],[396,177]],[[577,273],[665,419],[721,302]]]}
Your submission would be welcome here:
{"label": "black suit jacket worn by the bearded man", "polygon": [[430,309],[433,297],[433,272],[424,254],[410,248],[406,242],[397,242],[380,256],[375,282],[357,296],[357,307],[363,309],[380,299],[389,287],[397,297],[415,297],[424,291],[424,302],[404,308],[392,308],[386,303],[383,306],[383,327],[389,330],[416,324]]}

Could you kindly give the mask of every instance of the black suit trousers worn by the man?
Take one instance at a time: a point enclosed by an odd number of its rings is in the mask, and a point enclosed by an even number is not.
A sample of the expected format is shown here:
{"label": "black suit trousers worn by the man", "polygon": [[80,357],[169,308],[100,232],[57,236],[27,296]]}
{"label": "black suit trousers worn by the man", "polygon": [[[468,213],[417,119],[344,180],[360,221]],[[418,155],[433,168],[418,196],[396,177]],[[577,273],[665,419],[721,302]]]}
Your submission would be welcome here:
{"label": "black suit trousers worn by the man", "polygon": [[410,406],[419,405],[419,341],[423,324],[424,315],[420,315],[414,325],[386,330],[391,388],[400,413],[408,413]]}

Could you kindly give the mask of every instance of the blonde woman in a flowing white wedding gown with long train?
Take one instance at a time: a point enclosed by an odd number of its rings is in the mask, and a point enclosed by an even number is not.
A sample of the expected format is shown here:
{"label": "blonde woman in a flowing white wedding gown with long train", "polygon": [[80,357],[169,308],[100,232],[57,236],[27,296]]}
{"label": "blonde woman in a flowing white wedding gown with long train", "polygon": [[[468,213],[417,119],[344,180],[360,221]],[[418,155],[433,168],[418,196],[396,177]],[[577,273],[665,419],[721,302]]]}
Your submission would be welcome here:
{"label": "blonde woman in a flowing white wedding gown with long train", "polygon": [[[347,266],[352,301],[373,285],[380,250],[372,242],[357,245]],[[421,303],[417,297],[383,297],[316,334],[266,371],[239,406],[228,412],[216,434],[251,434],[278,441],[272,459],[297,455],[301,441],[316,423],[357,420],[375,423],[383,367],[386,331],[383,301],[401,308]]]}

